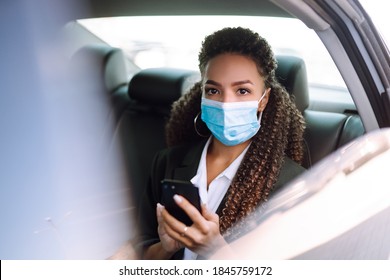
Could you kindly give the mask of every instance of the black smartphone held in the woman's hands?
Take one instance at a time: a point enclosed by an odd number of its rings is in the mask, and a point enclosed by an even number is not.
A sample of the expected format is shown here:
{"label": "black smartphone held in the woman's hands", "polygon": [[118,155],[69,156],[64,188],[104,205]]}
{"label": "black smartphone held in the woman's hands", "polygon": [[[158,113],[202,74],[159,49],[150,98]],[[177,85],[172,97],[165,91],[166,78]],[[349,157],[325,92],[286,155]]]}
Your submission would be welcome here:
{"label": "black smartphone held in the woman's hands", "polygon": [[196,209],[200,212],[200,197],[199,190],[189,181],[179,181],[164,179],[161,181],[162,187],[162,199],[161,204],[164,205],[165,209],[174,216],[176,219],[181,221],[187,226],[193,224],[190,217],[181,209],[173,199],[175,194],[179,194],[185,197]]}

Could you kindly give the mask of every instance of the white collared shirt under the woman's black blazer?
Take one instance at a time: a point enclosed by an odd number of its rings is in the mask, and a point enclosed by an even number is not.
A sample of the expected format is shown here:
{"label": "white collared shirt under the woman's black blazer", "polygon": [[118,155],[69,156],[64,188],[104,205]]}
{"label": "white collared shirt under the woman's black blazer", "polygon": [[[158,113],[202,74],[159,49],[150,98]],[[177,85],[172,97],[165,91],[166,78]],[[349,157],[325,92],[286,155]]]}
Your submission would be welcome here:
{"label": "white collared shirt under the woman's black blazer", "polygon": [[[196,175],[191,179],[191,183],[198,187],[201,202],[206,204],[207,209],[210,212],[215,213],[223,197],[225,196],[230,184],[232,183],[232,180],[237,173],[238,167],[240,166],[241,161],[249,148],[249,145],[224,171],[222,171],[213,181],[210,182],[210,185],[207,189],[206,155],[208,147],[211,143],[211,139],[212,136],[209,138],[203,148],[198,170],[196,172]],[[184,250],[183,259],[194,260],[196,258],[196,253],[192,252],[187,248]]]}

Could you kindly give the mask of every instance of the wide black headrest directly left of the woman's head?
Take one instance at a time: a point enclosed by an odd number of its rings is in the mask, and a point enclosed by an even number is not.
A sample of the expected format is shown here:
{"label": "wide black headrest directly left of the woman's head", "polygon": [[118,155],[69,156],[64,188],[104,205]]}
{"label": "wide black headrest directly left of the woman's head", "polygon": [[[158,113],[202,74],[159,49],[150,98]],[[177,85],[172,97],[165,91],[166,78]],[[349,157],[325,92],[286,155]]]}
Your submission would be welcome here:
{"label": "wide black headrest directly left of the woman's head", "polygon": [[200,74],[192,70],[144,69],[130,80],[129,97],[149,104],[170,105],[199,80]]}

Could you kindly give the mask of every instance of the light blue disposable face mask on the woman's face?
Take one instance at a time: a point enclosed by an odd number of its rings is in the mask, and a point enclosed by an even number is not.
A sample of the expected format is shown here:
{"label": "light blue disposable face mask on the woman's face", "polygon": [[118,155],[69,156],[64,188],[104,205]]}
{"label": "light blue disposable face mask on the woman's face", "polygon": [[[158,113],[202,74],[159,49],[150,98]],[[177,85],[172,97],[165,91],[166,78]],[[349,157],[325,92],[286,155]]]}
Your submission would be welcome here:
{"label": "light blue disposable face mask on the woman's face", "polygon": [[257,117],[259,101],[219,102],[202,98],[201,118],[211,133],[226,146],[234,146],[252,138],[260,129]]}

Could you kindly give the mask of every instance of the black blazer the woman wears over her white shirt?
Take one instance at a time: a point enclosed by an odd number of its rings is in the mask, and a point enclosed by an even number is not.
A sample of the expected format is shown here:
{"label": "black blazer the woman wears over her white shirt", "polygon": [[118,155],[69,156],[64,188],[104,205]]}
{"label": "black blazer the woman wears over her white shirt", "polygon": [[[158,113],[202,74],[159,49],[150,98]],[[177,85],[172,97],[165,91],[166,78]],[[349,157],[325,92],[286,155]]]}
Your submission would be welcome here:
{"label": "black blazer the woman wears over her white shirt", "polygon": [[[191,180],[198,170],[200,157],[206,141],[162,150],[155,156],[149,184],[145,190],[143,201],[140,203],[138,214],[140,233],[135,241],[137,250],[142,251],[145,247],[160,241],[157,233],[156,204],[161,202],[161,180]],[[286,157],[278,181],[275,184],[274,192],[303,171],[305,171],[303,167]],[[217,214],[220,214],[222,210],[223,201],[217,210]],[[182,259],[183,254],[184,250],[180,250],[172,259]]]}

